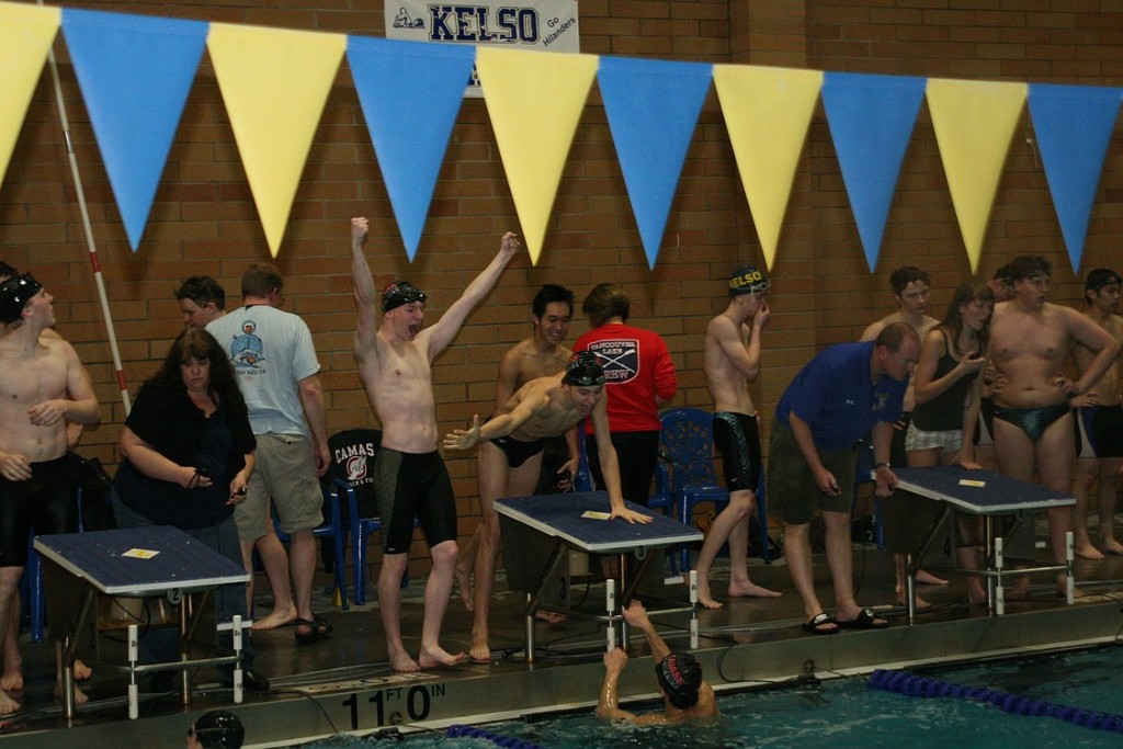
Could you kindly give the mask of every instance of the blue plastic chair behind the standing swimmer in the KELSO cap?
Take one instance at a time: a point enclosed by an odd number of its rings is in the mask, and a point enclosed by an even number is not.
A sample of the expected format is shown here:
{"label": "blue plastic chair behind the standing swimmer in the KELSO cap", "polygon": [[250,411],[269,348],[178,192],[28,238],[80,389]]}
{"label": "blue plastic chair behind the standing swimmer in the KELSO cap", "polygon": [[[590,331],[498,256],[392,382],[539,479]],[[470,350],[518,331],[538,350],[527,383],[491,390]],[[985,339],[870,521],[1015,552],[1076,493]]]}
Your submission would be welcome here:
{"label": "blue plastic chair behind the standing swimmer in the KELSO cap", "polygon": [[[690,524],[694,508],[700,502],[715,505],[729,502],[729,491],[718,482],[713,471],[713,415],[701,409],[672,409],[659,417],[661,450],[670,459],[669,495],[677,510],[678,520]],[[660,471],[666,471],[660,466]],[[757,485],[757,513],[760,523],[760,556],[772,564],[768,554],[768,513],[765,508],[764,471]],[[679,566],[690,569],[690,548],[679,552]]]}

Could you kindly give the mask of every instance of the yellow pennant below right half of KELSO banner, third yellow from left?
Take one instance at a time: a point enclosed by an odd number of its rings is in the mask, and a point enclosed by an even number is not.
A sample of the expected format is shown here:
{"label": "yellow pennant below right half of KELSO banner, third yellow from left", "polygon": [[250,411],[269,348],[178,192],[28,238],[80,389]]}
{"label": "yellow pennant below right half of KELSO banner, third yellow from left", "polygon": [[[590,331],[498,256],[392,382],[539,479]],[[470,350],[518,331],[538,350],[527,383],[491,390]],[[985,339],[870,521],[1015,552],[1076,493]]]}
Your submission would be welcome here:
{"label": "yellow pennant below right half of KELSO banner, third yellow from left", "polygon": [[476,51],[487,113],[535,265],[596,64],[596,55]]}

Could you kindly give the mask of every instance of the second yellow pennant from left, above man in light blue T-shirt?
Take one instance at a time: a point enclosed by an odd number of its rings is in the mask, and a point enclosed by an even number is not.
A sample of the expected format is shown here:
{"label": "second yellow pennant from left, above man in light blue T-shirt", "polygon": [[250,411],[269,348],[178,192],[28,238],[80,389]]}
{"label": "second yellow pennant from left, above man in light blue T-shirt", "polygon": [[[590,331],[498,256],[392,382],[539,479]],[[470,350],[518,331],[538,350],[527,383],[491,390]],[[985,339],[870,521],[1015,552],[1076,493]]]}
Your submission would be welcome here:
{"label": "second yellow pennant from left, above man in light blue T-shirt", "polygon": [[211,24],[207,48],[276,257],[347,37]]}

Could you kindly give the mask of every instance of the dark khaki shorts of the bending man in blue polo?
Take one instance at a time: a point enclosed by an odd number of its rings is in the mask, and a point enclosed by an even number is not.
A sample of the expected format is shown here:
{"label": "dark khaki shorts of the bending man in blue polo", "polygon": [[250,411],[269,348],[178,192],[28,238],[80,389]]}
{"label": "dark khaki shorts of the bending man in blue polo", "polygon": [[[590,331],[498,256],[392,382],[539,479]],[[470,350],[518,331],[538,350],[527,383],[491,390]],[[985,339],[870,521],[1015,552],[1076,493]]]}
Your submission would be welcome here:
{"label": "dark khaki shorts of the bending man in blue polo", "polygon": [[834,474],[842,490],[838,496],[820,491],[807,462],[795,444],[792,432],[773,420],[768,441],[767,502],[768,512],[775,512],[789,526],[803,526],[815,517],[815,510],[850,512],[853,506],[853,448],[819,450],[823,467]]}

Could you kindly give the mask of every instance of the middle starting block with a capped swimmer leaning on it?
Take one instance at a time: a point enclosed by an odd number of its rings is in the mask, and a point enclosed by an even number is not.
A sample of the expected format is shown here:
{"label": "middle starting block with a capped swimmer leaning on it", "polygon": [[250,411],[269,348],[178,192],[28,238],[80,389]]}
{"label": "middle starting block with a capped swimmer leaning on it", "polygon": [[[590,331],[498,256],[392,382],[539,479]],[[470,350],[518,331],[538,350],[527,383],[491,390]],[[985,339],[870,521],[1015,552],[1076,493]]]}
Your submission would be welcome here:
{"label": "middle starting block with a capped swimmer leaning on it", "polygon": [[[497,500],[500,532],[508,583],[513,591],[527,594],[527,661],[535,659],[535,612],[538,609],[570,612],[569,551],[615,555],[617,577],[606,581],[605,614],[609,642],[615,647],[615,622],[622,621],[621,606],[645,584],[658,584],[663,595],[663,554],[659,550],[676,544],[702,539],[702,531],[685,526],[646,508],[627,503],[628,508],[649,514],[650,523],[609,520],[606,492],[570,492]],[[657,564],[652,565],[651,561]],[[632,563],[629,565],[629,563]],[[619,591],[619,595],[617,592]],[[688,609],[693,611],[696,588],[691,586]],[[657,612],[652,612],[657,613]],[[669,613],[664,610],[663,613]],[[692,640],[696,638],[696,619],[692,620]],[[621,645],[627,647],[627,630]],[[692,646],[696,647],[696,646]]]}

